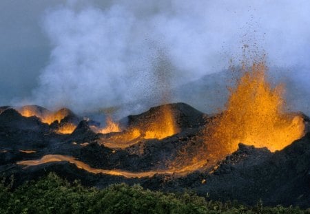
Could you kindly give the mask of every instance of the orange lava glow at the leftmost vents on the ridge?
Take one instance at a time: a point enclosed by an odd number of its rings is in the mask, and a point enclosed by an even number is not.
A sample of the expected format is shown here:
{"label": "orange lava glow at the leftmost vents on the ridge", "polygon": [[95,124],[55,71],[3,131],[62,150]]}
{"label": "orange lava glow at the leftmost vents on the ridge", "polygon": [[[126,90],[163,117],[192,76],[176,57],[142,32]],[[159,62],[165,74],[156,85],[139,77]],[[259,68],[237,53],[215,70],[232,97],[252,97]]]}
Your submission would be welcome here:
{"label": "orange lava glow at the leftmost vents on the ridge", "polygon": [[56,112],[48,111],[46,109],[40,111],[39,108],[34,105],[24,106],[21,109],[18,109],[17,111],[19,111],[19,114],[21,114],[24,117],[36,116],[42,122],[48,123],[48,125],[50,125],[52,122],[56,120],[58,120],[58,122],[61,122],[63,118],[65,118],[70,114],[68,109],[60,109],[59,111]]}

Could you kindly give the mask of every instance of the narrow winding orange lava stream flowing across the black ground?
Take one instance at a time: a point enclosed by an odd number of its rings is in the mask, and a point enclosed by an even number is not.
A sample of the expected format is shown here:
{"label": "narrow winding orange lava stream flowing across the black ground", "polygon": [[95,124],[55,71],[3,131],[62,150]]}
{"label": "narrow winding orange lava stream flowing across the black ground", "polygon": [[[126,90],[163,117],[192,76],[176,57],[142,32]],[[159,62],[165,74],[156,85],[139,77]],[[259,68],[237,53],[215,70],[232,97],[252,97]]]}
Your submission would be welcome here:
{"label": "narrow winding orange lava stream flowing across the black ground", "polygon": [[156,170],[156,171],[145,171],[145,172],[130,172],[130,171],[123,171],[119,169],[96,169],[90,167],[90,165],[85,164],[84,162],[81,162],[80,160],[76,160],[73,157],[70,156],[62,156],[62,155],[46,155],[43,156],[39,160],[23,160],[17,162],[19,165],[26,165],[27,167],[30,166],[37,166],[40,164],[46,164],[50,162],[62,162],[62,161],[67,161],[70,162],[71,164],[75,164],[77,168],[83,169],[85,171],[88,171],[90,173],[94,174],[107,174],[107,175],[118,175],[118,176],[124,176],[125,178],[143,178],[143,177],[152,177],[156,174],[161,175],[161,174],[178,174],[178,175],[185,175],[187,173],[190,173],[193,171],[193,168],[197,169],[197,167],[184,167],[183,169],[178,169],[178,170]]}

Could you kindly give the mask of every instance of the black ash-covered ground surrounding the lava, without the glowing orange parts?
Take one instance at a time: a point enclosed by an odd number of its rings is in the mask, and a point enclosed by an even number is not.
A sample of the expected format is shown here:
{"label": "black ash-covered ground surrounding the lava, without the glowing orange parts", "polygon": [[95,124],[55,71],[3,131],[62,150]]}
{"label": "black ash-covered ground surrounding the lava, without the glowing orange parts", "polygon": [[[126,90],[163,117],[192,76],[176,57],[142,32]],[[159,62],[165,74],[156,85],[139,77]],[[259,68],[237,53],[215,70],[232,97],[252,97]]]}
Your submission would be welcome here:
{"label": "black ash-covered ground surrounding the lava, without the glowing orange parts", "polygon": [[[271,153],[268,149],[256,149],[239,145],[238,151],[214,166],[205,167],[186,176],[154,175],[152,178],[124,178],[122,176],[93,174],[78,169],[68,162],[52,162],[34,167],[16,164],[20,160],[39,159],[46,154],[73,156],[91,167],[122,169],[125,171],[149,171],[166,169],[167,164],[180,158],[186,148],[194,153],[204,142],[199,134],[209,116],[184,103],[172,104],[180,133],[163,140],[141,140],[126,149],[110,149],[100,145],[102,134],[91,131],[94,121],[82,120],[73,113],[60,123],[42,123],[39,118],[25,118],[10,107],[0,107],[0,173],[14,175],[15,185],[39,178],[54,171],[68,180],[79,179],[87,186],[104,187],[126,182],[140,183],[148,189],[163,191],[196,191],[209,193],[214,200],[238,200],[255,204],[262,199],[265,205],[282,204],[310,207],[310,130],[309,118],[304,116],[307,133],[291,145]],[[127,127],[141,124],[152,117],[154,107],[138,116],[123,120]],[[72,134],[58,134],[55,129],[63,122],[78,125]],[[88,145],[80,145],[88,142]],[[20,150],[33,150],[24,153]]]}

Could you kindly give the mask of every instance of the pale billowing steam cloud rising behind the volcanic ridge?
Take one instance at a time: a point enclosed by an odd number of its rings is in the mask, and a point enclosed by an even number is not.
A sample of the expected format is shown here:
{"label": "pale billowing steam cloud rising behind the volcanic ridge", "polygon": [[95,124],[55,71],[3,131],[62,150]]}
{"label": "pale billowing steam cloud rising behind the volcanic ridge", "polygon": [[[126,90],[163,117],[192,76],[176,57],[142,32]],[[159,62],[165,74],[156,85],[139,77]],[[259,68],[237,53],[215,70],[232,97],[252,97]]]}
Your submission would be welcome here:
{"label": "pale billowing steam cloud rising behind the volcanic ridge", "polygon": [[298,66],[289,78],[303,83],[299,89],[310,97],[309,1],[79,3],[45,14],[43,28],[54,48],[34,103],[78,112],[160,104],[163,90],[220,72],[230,58],[238,63],[242,45],[253,43],[270,65]]}

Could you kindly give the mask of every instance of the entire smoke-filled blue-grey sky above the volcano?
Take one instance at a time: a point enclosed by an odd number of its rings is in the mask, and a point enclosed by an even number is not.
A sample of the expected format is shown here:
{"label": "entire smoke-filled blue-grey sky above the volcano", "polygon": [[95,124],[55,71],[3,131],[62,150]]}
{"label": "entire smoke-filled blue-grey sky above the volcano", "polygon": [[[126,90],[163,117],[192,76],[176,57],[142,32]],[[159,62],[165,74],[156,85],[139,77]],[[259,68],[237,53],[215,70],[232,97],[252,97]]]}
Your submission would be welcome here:
{"label": "entire smoke-filled blue-grey sky above the volcano", "polygon": [[230,59],[238,65],[249,45],[247,57],[265,53],[270,67],[290,71],[288,89],[298,90],[289,98],[309,110],[307,0],[1,0],[0,30],[0,105],[82,112],[130,103],[132,113]]}

